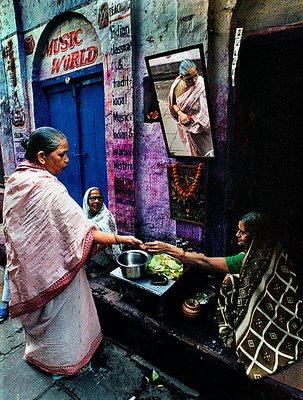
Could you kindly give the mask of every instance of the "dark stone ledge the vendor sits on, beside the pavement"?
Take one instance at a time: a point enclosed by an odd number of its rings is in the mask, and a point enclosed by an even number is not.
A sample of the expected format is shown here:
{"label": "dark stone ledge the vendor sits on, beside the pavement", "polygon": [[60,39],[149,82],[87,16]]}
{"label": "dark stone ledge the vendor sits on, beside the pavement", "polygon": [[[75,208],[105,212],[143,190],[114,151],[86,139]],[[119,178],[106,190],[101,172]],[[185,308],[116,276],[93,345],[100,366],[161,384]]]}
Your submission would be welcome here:
{"label": "dark stone ledge the vendor sits on, beside the pavement", "polygon": [[[91,281],[102,329],[166,373],[211,399],[302,400],[303,393],[272,377],[250,381],[235,355],[210,337],[205,341],[184,334],[170,321],[156,318],[136,305],[121,300],[119,291]],[[207,321],[206,321],[207,322]],[[192,325],[192,330],[197,332]],[[204,326],[203,329],[207,329]],[[189,332],[191,329],[189,329]]]}

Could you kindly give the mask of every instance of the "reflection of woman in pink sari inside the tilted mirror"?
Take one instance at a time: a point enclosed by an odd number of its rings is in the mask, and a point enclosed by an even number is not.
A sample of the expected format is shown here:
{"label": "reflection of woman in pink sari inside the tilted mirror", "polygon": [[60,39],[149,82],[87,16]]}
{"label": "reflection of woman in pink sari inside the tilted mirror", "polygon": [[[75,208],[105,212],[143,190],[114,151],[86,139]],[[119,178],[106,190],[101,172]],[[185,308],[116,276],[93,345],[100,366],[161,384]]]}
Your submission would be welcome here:
{"label": "reflection of woman in pink sari inside the tilted mirror", "polygon": [[192,60],[183,60],[179,72],[170,88],[168,105],[181,142],[190,156],[214,157],[204,79]]}

